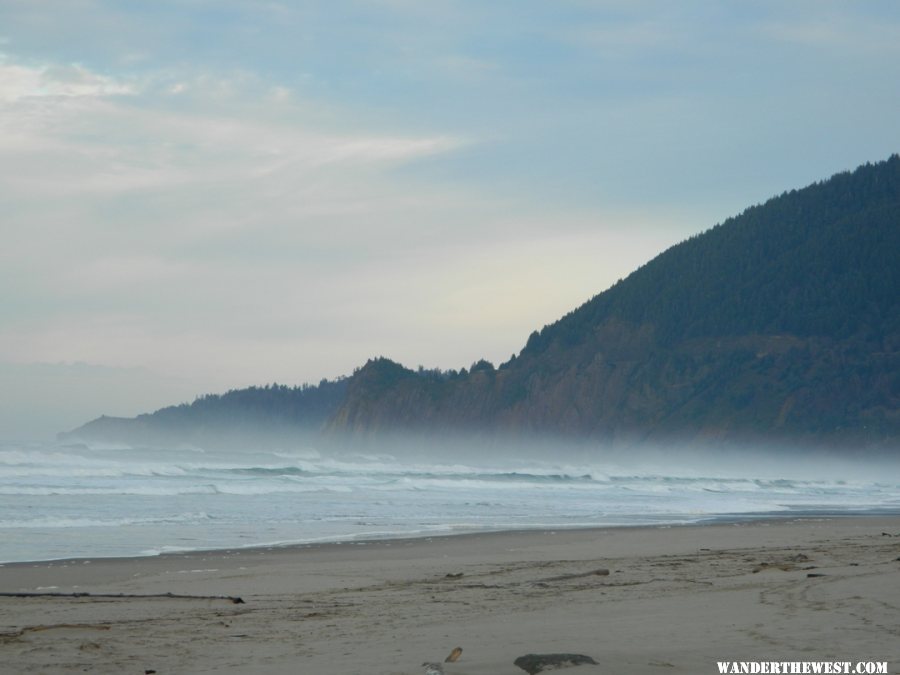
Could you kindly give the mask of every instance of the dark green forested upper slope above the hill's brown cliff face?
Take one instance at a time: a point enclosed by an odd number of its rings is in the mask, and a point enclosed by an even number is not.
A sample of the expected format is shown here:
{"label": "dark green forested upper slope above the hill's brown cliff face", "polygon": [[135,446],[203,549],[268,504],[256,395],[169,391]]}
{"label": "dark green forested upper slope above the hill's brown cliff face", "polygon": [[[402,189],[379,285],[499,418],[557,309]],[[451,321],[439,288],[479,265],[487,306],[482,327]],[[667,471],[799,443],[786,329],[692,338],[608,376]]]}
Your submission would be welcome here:
{"label": "dark green forested upper slope above the hill's brown cliff face", "polygon": [[673,246],[532,336],[577,343],[611,318],[657,340],[900,328],[900,156],[792,190]]}

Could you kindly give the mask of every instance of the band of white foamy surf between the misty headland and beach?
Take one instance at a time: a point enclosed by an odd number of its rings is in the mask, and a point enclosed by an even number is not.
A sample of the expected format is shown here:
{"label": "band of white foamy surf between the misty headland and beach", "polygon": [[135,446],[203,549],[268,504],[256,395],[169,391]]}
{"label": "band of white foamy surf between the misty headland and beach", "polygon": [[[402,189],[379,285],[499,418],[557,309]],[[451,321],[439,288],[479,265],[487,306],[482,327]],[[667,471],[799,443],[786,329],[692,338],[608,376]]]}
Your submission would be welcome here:
{"label": "band of white foamy surf between the misty headland and beach", "polygon": [[[900,512],[900,475],[313,448],[0,444],[0,563],[511,529]],[[809,473],[808,471],[806,472]],[[833,472],[832,472],[833,473]],[[840,472],[839,472],[840,473]]]}

